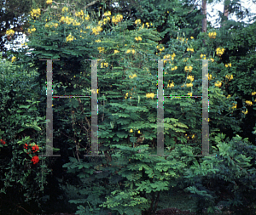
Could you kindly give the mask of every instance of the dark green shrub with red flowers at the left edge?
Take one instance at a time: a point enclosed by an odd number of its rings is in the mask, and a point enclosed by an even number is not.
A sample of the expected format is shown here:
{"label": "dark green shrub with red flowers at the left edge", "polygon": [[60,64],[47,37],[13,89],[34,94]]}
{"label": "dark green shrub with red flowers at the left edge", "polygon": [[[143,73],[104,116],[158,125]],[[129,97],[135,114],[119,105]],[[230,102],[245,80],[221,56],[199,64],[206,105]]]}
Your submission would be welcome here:
{"label": "dark green shrub with red flowers at the left edge", "polygon": [[0,61],[0,197],[9,208],[0,213],[36,212],[50,172],[46,157],[39,156],[46,137],[35,101],[39,88],[20,66]]}

